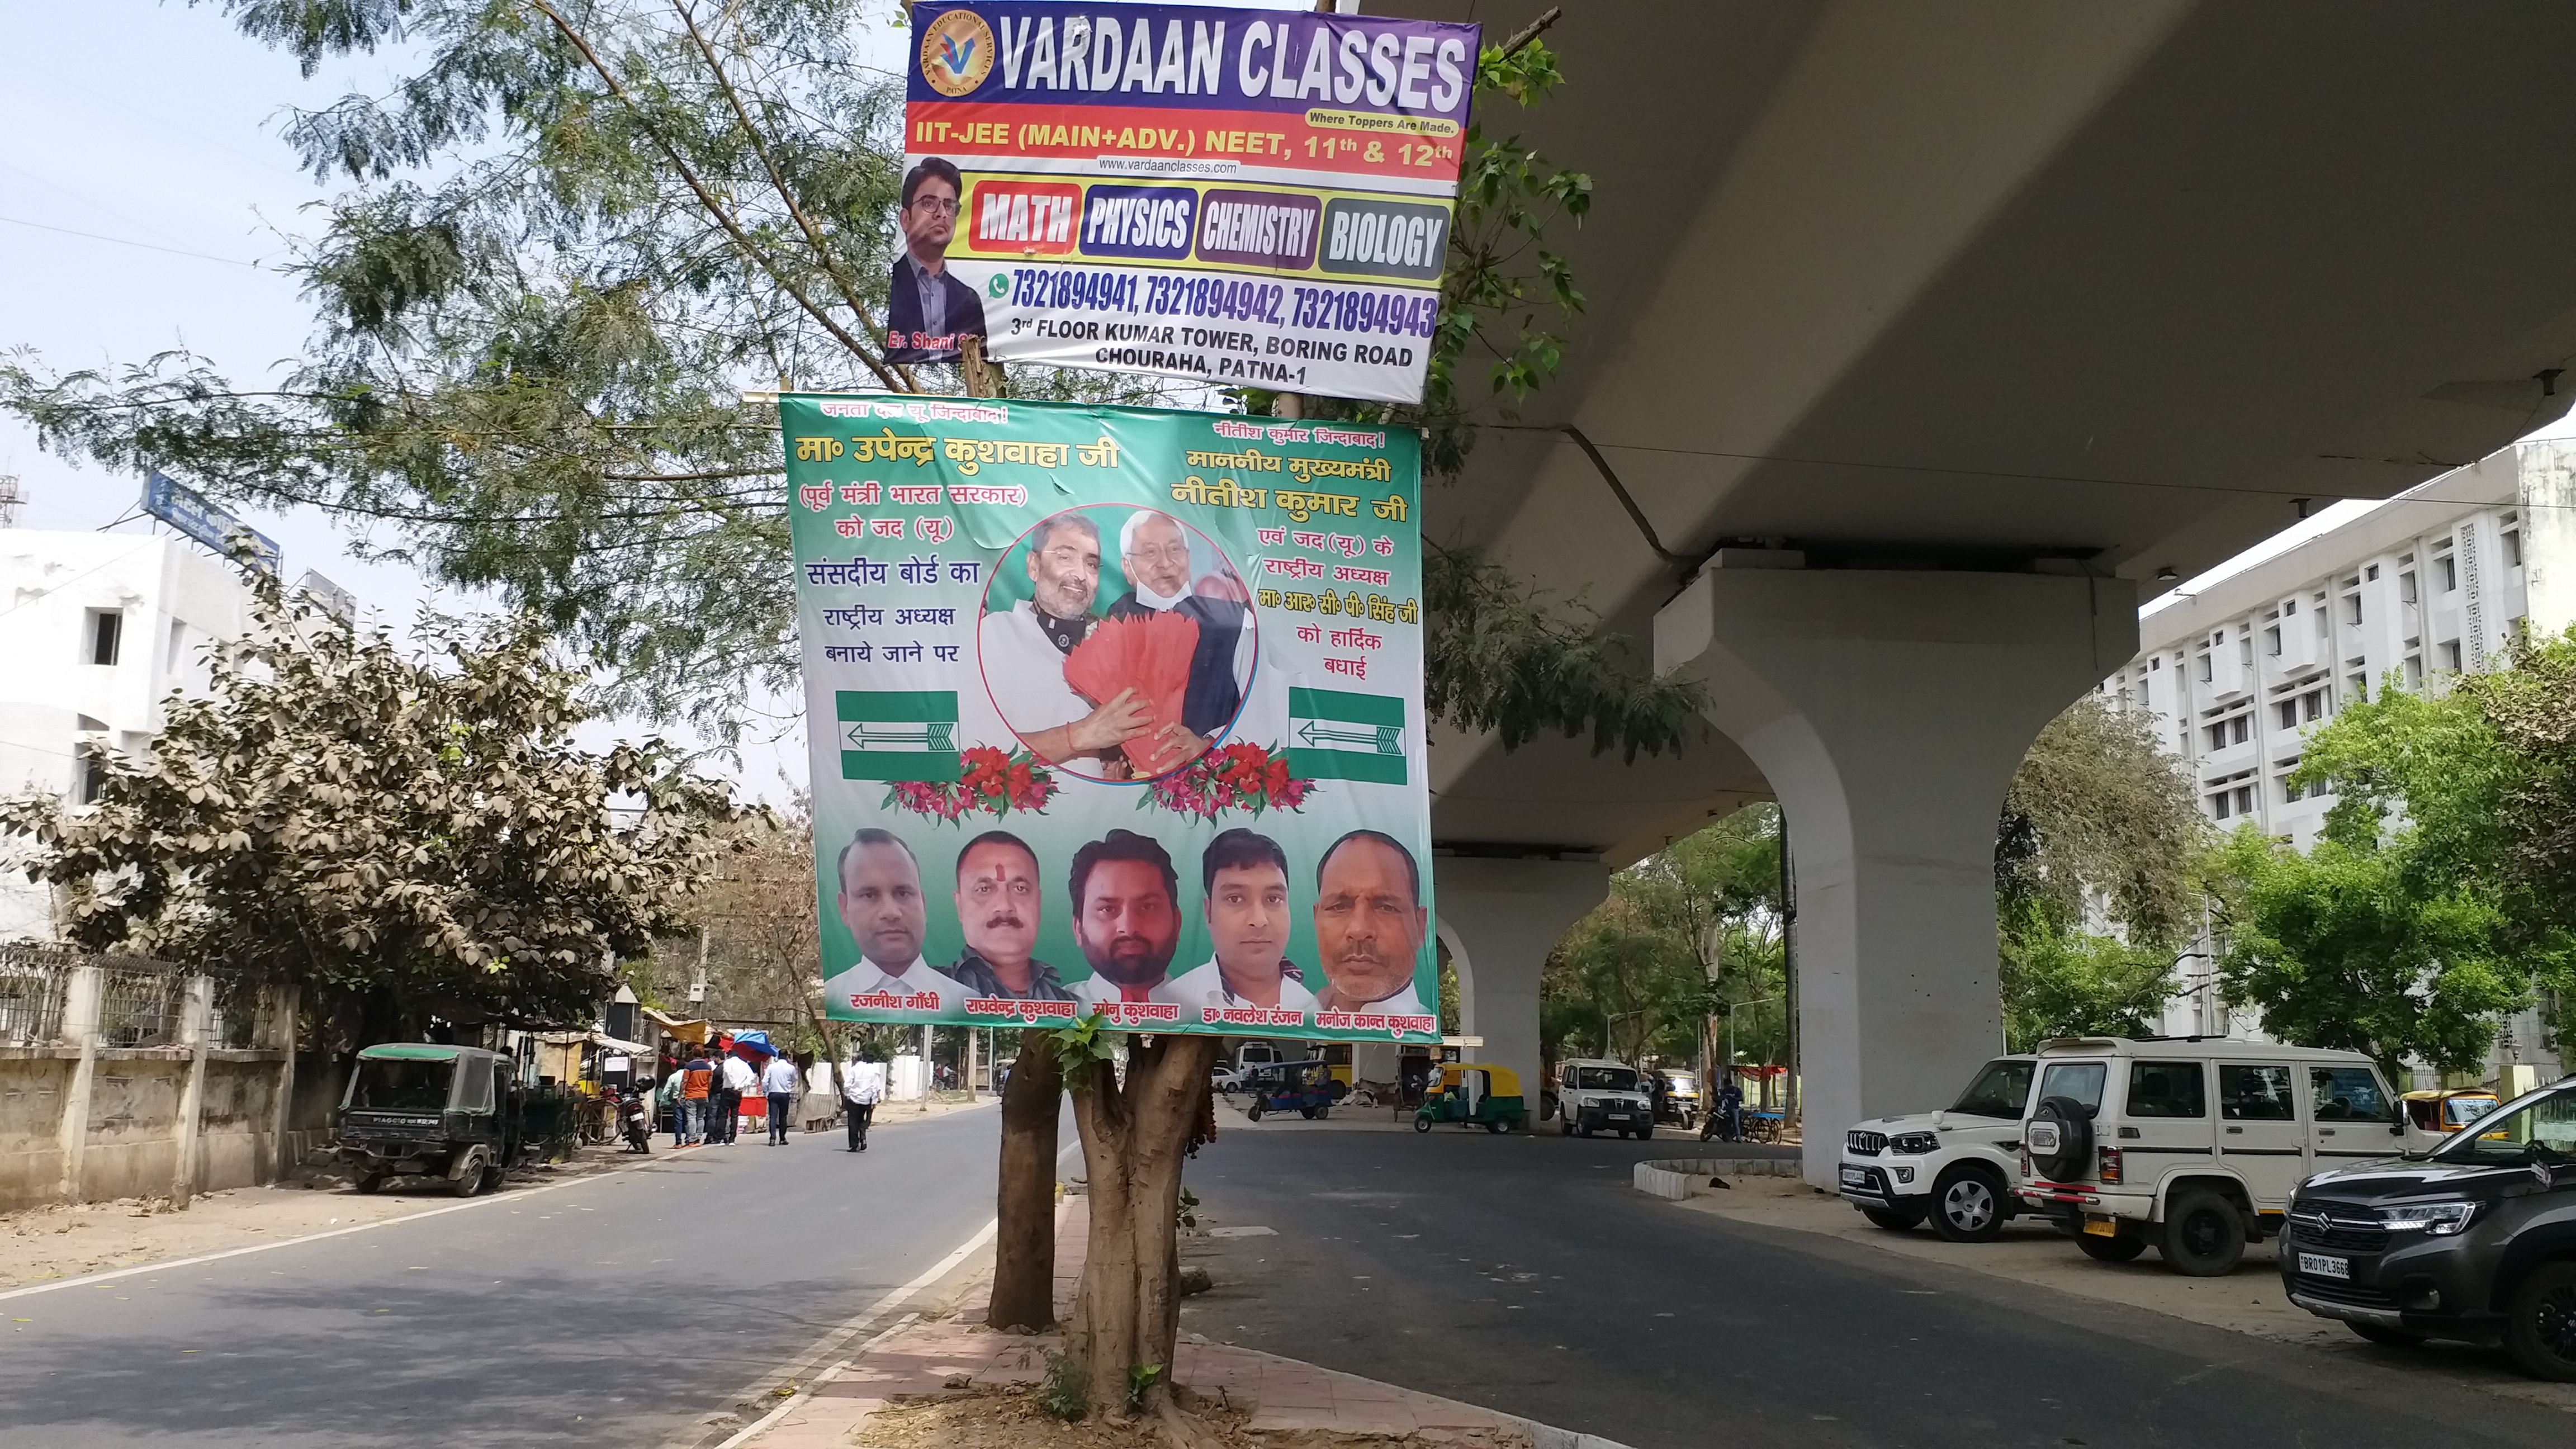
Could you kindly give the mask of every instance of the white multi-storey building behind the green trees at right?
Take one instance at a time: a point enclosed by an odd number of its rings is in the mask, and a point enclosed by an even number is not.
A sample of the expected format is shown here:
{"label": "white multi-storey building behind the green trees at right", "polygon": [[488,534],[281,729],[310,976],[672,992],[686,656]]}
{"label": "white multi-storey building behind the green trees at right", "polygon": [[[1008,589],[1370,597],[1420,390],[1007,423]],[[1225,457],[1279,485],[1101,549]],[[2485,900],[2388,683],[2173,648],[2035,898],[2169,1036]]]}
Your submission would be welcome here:
{"label": "white multi-storey building behind the green trees at right", "polygon": [[[2576,441],[2532,441],[2447,472],[2360,518],[2141,611],[2141,652],[2102,683],[2151,709],[2218,828],[2254,820],[2306,848],[2324,789],[2290,784],[2308,730],[2388,678],[2421,688],[2501,663],[2517,627],[2576,624]],[[2184,962],[2169,1034],[2254,1034],[2228,1013],[2205,954]],[[2499,1065],[2555,1067],[2535,1013]]]}

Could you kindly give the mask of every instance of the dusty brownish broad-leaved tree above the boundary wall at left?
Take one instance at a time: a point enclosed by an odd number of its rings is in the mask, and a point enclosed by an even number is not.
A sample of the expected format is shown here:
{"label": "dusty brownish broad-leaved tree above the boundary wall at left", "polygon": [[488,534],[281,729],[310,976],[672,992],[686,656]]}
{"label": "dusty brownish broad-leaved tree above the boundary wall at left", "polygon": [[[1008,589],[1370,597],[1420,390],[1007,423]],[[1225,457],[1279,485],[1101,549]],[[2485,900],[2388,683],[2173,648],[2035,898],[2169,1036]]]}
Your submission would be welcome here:
{"label": "dusty brownish broad-leaved tree above the boundary wall at left", "polygon": [[162,704],[152,753],[100,755],[95,804],[0,802],[0,833],[70,941],[296,982],[337,1047],[585,1024],[618,957],[690,920],[742,812],[662,743],[574,748],[585,676],[536,621],[422,642],[255,575],[250,634]]}

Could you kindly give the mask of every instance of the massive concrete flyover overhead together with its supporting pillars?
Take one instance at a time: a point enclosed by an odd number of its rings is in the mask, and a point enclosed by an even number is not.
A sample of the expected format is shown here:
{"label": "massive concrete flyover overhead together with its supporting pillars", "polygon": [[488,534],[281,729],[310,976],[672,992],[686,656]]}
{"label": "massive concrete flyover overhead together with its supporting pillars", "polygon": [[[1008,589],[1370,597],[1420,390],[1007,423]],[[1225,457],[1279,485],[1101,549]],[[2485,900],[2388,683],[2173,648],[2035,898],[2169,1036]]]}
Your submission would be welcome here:
{"label": "massive concrete flyover overhead together with its supporting pillars", "polygon": [[1824,1181],[1994,1049],[2004,781],[2138,596],[2566,410],[2576,10],[1587,0],[1548,41],[1571,83],[1486,124],[1592,173],[1551,237],[1589,304],[1427,531],[1716,706],[1636,766],[1435,730],[1443,938],[1535,1070],[1605,871],[1780,799]]}

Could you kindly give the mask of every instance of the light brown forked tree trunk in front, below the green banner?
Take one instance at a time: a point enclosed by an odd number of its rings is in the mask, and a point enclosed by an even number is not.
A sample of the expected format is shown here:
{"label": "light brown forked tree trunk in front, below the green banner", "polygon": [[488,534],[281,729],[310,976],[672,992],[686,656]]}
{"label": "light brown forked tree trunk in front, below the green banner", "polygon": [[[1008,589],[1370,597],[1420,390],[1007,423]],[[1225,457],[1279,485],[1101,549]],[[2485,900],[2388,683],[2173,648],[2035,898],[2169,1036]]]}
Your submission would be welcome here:
{"label": "light brown forked tree trunk in front, below the green banner", "polygon": [[1074,1124],[1090,1171],[1090,1256],[1064,1348],[1095,1410],[1126,1413],[1131,1372],[1151,1372],[1146,1410],[1170,1403],[1180,1336],[1180,1163],[1216,1036],[1128,1036],[1126,1083],[1108,1062],[1082,1067]]}

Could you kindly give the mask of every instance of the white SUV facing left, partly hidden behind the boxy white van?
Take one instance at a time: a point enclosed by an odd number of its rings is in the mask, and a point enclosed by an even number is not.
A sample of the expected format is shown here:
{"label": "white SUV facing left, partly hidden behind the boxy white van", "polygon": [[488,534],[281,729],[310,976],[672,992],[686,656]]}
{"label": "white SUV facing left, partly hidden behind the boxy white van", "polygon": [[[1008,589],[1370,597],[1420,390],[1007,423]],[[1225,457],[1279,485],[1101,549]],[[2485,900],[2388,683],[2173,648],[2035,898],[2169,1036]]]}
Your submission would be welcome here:
{"label": "white SUV facing left, partly hidden behind the boxy white van", "polygon": [[1953,1243],[1991,1240],[2017,1212],[2030,1070],[2032,1057],[1996,1057],[1945,1111],[1855,1124],[1842,1134],[1842,1199],[1891,1232],[1932,1220]]}

